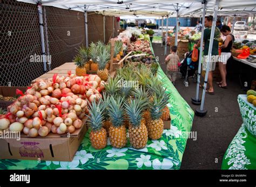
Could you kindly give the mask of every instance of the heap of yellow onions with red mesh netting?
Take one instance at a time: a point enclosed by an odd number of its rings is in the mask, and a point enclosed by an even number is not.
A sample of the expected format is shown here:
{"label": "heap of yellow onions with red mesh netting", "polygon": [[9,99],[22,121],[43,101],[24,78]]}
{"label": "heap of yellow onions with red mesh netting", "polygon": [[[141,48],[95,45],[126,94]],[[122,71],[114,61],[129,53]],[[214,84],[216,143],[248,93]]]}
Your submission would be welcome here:
{"label": "heap of yellow onions with red mesh netting", "polygon": [[23,132],[29,137],[73,133],[82,127],[87,103],[102,98],[105,82],[98,75],[53,75],[37,80],[1,114],[1,132]]}

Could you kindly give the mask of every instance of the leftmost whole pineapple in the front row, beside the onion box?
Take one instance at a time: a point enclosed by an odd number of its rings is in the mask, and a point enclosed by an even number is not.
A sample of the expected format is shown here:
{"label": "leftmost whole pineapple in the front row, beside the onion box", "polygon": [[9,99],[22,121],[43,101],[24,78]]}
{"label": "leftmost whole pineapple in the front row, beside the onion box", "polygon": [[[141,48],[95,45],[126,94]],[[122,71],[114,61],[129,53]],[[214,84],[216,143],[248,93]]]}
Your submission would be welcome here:
{"label": "leftmost whole pineapple in the front row, beside the onion box", "polygon": [[103,128],[103,110],[104,105],[102,104],[102,100],[96,104],[95,100],[93,100],[92,104],[88,103],[90,106],[88,123],[91,127],[90,140],[91,145],[95,149],[103,149],[107,145],[107,133],[105,128]]}

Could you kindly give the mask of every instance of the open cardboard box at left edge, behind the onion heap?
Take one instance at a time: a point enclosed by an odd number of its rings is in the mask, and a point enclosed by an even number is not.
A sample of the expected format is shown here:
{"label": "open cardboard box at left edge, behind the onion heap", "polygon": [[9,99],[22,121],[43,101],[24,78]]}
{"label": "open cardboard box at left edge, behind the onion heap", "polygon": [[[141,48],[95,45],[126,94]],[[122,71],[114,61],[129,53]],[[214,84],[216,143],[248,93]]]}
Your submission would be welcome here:
{"label": "open cardboard box at left edge, behind the onion heap", "polygon": [[[27,87],[0,87],[0,95],[4,97],[15,97],[16,89],[21,90],[23,93],[26,91]],[[13,101],[0,100],[0,108],[6,109],[7,106],[14,103]]]}

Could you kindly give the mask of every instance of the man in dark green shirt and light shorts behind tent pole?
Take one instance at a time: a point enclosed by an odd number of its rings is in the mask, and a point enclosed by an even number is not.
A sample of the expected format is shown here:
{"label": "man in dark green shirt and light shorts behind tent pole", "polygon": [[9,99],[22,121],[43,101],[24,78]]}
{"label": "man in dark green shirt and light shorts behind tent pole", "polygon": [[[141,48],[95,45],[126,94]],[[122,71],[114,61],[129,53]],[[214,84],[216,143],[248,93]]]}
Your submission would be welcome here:
{"label": "man in dark green shirt and light shorts behind tent pole", "polygon": [[[208,58],[208,51],[209,51],[209,45],[210,45],[210,39],[211,39],[211,30],[212,30],[212,16],[205,17],[205,30],[204,30],[204,58],[203,58],[203,71],[206,71],[207,67],[207,58]],[[220,30],[218,27],[215,27],[214,31],[214,40],[212,45],[212,56],[209,61],[209,73],[208,73],[208,90],[206,90],[207,93],[210,95],[214,95],[214,89],[213,89],[213,75],[212,71],[215,70],[216,62],[218,61],[218,55],[219,55],[219,38],[220,38]],[[197,44],[197,47],[200,46],[200,41]]]}

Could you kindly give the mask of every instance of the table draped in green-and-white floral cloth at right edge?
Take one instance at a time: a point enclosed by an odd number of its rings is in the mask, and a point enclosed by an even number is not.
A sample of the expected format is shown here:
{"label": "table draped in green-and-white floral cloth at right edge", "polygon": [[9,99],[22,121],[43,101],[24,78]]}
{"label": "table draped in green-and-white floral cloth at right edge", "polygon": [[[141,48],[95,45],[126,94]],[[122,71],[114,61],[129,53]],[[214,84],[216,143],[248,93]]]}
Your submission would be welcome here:
{"label": "table draped in green-and-white floral cloth at right edge", "polygon": [[221,169],[256,169],[256,107],[238,96],[243,124],[228,147]]}

